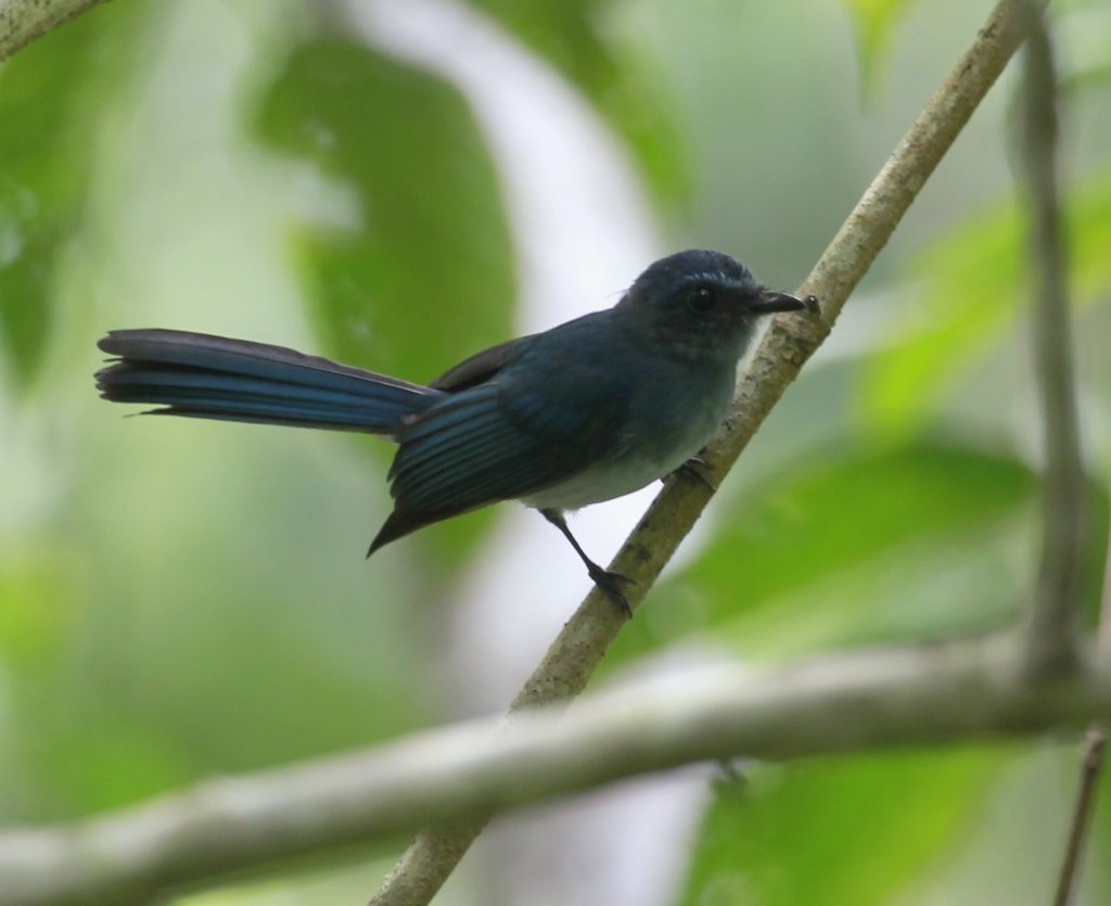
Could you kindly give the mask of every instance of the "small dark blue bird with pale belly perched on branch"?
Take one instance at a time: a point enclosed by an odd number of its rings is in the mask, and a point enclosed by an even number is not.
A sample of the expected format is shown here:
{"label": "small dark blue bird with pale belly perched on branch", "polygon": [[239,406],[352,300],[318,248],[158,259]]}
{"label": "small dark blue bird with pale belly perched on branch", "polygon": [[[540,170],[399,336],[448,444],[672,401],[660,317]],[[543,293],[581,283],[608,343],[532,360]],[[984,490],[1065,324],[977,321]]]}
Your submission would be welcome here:
{"label": "small dark blue bird with pale belly perched on branch", "polygon": [[111,330],[101,397],[181,416],[381,435],[398,445],[393,509],[367,556],[433,522],[520,500],[562,532],[631,615],[620,574],[587,556],[564,514],[622,497],[697,458],[733,397],[761,318],[809,300],[729,255],[677,252],[609,309],[481,351],[416,384],[280,346],[168,329]]}

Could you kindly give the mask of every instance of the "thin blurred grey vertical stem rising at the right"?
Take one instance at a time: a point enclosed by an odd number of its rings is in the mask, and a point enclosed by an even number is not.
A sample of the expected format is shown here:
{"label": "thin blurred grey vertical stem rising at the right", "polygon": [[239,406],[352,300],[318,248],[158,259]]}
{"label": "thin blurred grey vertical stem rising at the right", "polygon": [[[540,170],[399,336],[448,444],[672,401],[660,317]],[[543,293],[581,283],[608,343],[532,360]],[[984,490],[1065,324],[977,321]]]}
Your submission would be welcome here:
{"label": "thin blurred grey vertical stem rising at the right", "polygon": [[1028,195],[1033,344],[1045,444],[1043,539],[1030,620],[1034,678],[1069,669],[1084,547],[1084,471],[1080,458],[1070,338],[1069,290],[1057,176],[1057,77],[1040,9],[1023,4],[1029,32],[1022,84],[1021,188]]}

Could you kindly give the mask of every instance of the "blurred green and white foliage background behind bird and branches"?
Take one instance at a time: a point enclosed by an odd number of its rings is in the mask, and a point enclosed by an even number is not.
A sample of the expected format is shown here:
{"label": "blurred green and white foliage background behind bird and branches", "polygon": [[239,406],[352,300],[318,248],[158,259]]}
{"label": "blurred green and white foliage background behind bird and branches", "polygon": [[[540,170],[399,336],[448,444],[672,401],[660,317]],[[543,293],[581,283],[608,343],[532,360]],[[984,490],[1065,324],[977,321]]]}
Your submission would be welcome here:
{"label": "blurred green and white foliage background behind bird and branches", "polygon": [[[121,418],[93,392],[99,336],[196,329],[427,380],[611,305],[678,248],[797,286],[988,8],[117,0],[0,66],[0,823],[498,711],[588,586],[511,505],[364,561],[388,445]],[[1092,617],[1111,8],[1053,10]],[[1014,84],[1009,70],[599,683],[1015,618],[1040,447]],[[651,494],[577,518],[595,559]],[[442,902],[1044,903],[1075,741],[625,784],[500,822]],[[361,903],[403,843],[179,902]],[[1111,904],[1109,845],[1104,793],[1083,903]]]}

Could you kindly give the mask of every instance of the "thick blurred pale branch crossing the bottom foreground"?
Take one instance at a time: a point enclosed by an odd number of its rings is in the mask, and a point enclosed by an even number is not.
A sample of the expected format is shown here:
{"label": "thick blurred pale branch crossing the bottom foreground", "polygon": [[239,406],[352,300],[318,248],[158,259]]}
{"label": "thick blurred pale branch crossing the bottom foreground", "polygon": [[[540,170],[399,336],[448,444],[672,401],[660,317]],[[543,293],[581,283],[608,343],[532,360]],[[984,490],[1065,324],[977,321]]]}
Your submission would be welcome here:
{"label": "thick blurred pale branch crossing the bottom foreground", "polygon": [[965,641],[762,671],[701,668],[362,754],[209,780],[116,814],[0,834],[0,906],[128,906],[176,885],[745,753],[790,759],[1040,734],[1111,717],[1111,666],[1025,683],[1021,646]]}

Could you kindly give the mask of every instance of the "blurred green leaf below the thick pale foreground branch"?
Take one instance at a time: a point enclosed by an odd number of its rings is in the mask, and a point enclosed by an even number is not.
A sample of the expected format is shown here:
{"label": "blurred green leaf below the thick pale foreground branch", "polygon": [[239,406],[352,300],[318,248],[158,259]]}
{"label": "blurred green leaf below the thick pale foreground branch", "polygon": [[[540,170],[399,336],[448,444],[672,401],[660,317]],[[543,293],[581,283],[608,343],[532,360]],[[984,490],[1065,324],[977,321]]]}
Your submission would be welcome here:
{"label": "blurred green leaf below the thick pale foreground branch", "polygon": [[707,815],[690,906],[869,906],[954,848],[979,817],[999,749],[757,766]]}

